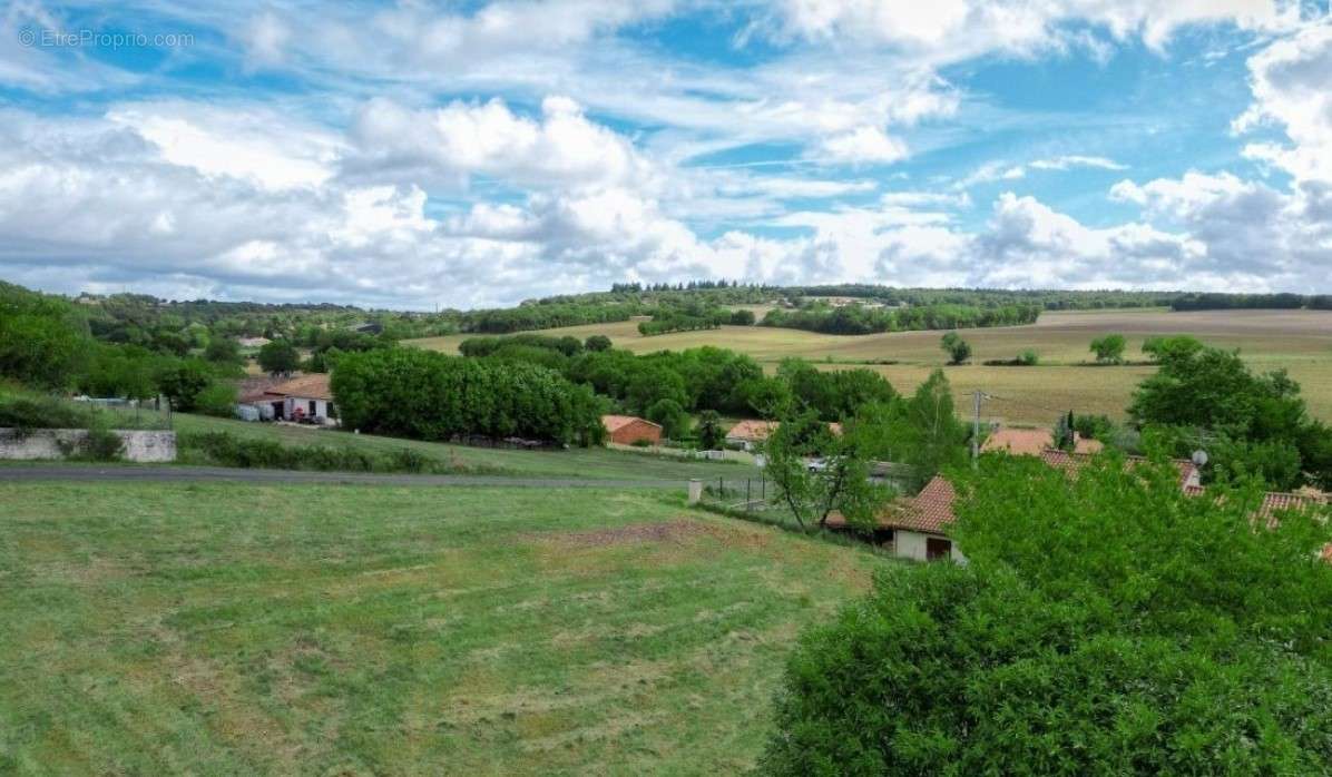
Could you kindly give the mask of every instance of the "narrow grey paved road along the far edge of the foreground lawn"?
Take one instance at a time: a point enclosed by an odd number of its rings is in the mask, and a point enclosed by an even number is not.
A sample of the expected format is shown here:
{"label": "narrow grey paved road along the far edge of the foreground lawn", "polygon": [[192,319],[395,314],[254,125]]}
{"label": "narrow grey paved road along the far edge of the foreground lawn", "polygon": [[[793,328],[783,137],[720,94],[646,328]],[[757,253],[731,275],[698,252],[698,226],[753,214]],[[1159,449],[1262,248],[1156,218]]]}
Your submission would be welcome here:
{"label": "narrow grey paved road along the far edge of the foreground lawn", "polygon": [[593,480],[581,478],[500,478],[493,475],[370,475],[230,467],[32,464],[0,467],[0,483],[37,480],[197,483],[357,483],[370,486],[515,486],[521,488],[683,488],[686,480]]}

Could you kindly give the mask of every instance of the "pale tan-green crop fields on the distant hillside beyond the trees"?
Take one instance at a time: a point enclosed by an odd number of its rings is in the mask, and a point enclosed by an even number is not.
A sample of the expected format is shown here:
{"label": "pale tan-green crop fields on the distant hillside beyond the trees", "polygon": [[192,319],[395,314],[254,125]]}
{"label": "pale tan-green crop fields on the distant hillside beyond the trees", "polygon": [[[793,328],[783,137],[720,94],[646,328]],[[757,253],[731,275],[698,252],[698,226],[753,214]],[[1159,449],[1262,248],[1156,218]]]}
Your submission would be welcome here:
{"label": "pale tan-green crop fields on the distant hillside beyond the trees", "polygon": [[[645,338],[634,322],[547,330],[579,338],[606,334],[619,347],[635,353],[681,350],[705,345],[747,353],[767,367],[783,357],[805,357],[829,369],[868,366],[900,391],[915,388],[930,371],[944,366],[938,331],[872,335],[826,335],[790,329],[735,327],[675,333]],[[1134,386],[1150,366],[1096,367],[1088,343],[1108,333],[1128,338],[1127,358],[1140,361],[1146,338],[1192,334],[1208,345],[1240,349],[1257,370],[1285,369],[1300,382],[1311,411],[1332,419],[1332,311],[1224,310],[1172,313],[1167,310],[1103,310],[1044,313],[1034,325],[962,330],[974,349],[972,363],[946,367],[959,407],[962,394],[982,390],[996,396],[986,404],[988,418],[1048,424],[1058,412],[1123,415]],[[424,347],[453,351],[466,335],[412,341]],[[1038,367],[986,367],[987,359],[1011,359],[1032,349]],[[871,362],[896,362],[872,365]]]}

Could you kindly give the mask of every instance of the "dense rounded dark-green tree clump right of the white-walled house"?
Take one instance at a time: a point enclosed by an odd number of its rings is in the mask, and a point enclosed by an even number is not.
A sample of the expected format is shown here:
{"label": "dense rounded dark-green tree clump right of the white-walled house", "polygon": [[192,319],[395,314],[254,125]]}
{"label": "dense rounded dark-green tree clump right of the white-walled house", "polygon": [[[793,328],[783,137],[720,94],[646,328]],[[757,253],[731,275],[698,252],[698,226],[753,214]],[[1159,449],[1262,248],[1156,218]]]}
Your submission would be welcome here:
{"label": "dense rounded dark-green tree clump right of the white-walled house", "polygon": [[522,362],[384,349],[344,355],[330,386],[342,424],[369,432],[578,446],[599,444],[606,434],[601,402],[590,388]]}

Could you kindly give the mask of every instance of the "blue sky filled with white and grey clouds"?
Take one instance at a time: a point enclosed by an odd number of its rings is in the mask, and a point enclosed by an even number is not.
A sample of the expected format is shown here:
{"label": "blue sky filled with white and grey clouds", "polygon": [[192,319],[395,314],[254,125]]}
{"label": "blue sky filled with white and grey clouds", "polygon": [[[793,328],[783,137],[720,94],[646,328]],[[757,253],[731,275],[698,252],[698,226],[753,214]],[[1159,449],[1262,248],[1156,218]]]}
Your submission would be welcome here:
{"label": "blue sky filled with white and grey clouds", "polygon": [[0,278],[1332,291],[1325,0],[0,0]]}

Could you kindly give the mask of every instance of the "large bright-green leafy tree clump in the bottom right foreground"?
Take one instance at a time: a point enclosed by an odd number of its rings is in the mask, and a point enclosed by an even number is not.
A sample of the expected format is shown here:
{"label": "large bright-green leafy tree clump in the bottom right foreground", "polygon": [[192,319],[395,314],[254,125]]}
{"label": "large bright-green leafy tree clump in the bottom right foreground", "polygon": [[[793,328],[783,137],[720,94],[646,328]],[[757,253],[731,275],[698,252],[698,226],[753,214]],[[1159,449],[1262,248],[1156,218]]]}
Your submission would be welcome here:
{"label": "large bright-green leafy tree clump in the bottom right foreground", "polygon": [[802,636],[773,774],[1316,774],[1332,762],[1332,527],[1166,462],[986,456],[968,564],[888,565]]}

